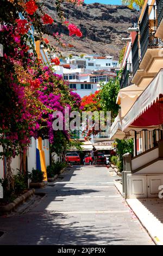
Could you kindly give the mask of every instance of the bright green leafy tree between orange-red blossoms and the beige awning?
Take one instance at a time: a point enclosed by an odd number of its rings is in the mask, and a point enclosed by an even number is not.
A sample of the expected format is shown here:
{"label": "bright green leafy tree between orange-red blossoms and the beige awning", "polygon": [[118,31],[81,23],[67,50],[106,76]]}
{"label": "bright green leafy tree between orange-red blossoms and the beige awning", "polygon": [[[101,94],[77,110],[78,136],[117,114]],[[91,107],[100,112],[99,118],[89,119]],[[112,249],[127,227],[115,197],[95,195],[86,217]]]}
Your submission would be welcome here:
{"label": "bright green leafy tree between orange-red blossoms and the beige awning", "polygon": [[120,91],[119,77],[110,79],[106,84],[101,83],[102,89],[100,90],[100,103],[103,111],[111,112],[111,119],[114,119],[118,114],[119,105],[116,104],[118,92]]}

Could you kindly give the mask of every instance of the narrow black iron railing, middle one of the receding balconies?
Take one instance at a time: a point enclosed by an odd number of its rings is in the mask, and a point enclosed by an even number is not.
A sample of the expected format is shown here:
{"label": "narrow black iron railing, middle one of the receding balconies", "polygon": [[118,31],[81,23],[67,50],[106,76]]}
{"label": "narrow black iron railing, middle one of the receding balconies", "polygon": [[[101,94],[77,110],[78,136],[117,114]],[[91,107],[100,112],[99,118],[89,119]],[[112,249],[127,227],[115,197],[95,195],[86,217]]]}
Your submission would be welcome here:
{"label": "narrow black iron railing, middle one of the receding balconies", "polygon": [[139,69],[139,42],[138,42],[138,34],[136,35],[135,41],[132,46],[132,63],[133,63],[133,77]]}

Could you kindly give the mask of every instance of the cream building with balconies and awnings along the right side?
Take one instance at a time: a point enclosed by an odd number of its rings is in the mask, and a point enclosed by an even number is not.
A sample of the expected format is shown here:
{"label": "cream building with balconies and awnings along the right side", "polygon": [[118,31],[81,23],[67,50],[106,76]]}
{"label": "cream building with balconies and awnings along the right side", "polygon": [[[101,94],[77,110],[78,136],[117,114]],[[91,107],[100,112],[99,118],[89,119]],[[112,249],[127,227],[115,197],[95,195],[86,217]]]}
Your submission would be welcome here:
{"label": "cream building with balconies and awnings along the right side", "polygon": [[134,155],[123,156],[124,198],[158,197],[163,185],[162,23],[162,0],[146,0],[127,46],[131,68],[126,58],[117,98],[121,112],[111,127],[111,138],[134,138]]}

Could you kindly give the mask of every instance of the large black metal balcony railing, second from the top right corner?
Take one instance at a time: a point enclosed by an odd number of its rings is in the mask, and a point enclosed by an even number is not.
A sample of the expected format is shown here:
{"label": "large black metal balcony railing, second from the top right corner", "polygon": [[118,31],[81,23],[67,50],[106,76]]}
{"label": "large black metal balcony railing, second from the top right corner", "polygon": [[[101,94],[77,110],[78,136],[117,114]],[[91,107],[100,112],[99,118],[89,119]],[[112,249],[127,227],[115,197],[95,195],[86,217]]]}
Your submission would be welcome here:
{"label": "large black metal balcony railing, second from the top right corner", "polygon": [[[152,7],[151,17],[149,20],[149,7]],[[156,5],[148,5],[143,15],[142,21],[139,23],[140,28],[140,47],[141,47],[141,60],[145,56],[148,48],[160,48],[163,42],[155,37],[158,21],[156,20]]]}

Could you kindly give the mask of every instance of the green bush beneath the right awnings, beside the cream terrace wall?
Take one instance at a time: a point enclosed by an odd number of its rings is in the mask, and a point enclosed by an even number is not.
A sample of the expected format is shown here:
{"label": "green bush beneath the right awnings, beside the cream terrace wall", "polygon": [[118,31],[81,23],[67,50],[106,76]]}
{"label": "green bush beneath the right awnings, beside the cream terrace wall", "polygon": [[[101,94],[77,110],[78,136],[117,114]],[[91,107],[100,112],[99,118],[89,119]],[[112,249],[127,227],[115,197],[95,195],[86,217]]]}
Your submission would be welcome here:
{"label": "green bush beneath the right awnings, beside the cream terrace wall", "polygon": [[116,139],[117,142],[117,154],[120,158],[120,162],[118,162],[117,166],[122,171],[123,170],[123,155],[126,153],[130,153],[133,155],[134,153],[134,141],[133,139]]}

